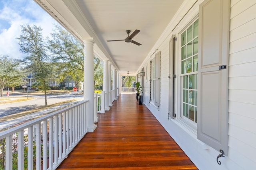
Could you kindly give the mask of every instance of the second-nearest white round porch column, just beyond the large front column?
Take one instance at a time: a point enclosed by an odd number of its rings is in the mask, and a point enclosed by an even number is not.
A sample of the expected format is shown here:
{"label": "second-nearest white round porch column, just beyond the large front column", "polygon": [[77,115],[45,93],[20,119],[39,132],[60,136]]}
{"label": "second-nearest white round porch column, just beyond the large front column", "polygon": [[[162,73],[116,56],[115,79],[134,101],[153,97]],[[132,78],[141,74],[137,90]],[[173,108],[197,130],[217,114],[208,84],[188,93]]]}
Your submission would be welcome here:
{"label": "second-nearest white round porch column, just beyond the large front column", "polygon": [[103,91],[106,92],[104,98],[104,109],[109,111],[110,107],[108,106],[108,59],[103,60]]}

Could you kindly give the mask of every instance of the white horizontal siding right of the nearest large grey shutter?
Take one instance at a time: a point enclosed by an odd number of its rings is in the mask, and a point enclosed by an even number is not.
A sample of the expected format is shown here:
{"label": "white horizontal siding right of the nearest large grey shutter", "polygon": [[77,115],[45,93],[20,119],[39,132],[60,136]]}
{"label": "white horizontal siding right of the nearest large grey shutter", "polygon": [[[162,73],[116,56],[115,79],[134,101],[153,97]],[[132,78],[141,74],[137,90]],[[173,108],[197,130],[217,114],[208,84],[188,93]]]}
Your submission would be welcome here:
{"label": "white horizontal siding right of the nearest large grey shutter", "polygon": [[256,1],[233,0],[230,9],[229,157],[256,168]]}

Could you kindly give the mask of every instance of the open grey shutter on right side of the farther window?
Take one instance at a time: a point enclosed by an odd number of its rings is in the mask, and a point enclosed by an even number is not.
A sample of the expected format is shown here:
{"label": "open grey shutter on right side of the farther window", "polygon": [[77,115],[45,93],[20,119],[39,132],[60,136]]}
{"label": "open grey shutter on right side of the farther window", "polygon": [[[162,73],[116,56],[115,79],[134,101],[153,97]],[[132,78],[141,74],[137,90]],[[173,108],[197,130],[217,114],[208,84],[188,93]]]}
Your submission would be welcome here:
{"label": "open grey shutter on right side of the farther window", "polygon": [[160,107],[160,51],[156,53],[155,60],[155,86],[154,86],[154,96],[155,96],[155,106]]}

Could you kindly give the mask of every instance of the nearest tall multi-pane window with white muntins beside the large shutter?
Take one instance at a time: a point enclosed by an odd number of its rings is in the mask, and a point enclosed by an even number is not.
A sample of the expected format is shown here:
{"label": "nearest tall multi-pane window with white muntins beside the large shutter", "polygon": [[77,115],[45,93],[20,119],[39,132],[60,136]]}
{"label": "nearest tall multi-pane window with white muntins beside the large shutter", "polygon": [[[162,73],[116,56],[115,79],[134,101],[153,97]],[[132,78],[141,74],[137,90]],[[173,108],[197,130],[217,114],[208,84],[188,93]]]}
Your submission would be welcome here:
{"label": "nearest tall multi-pane window with white muntins beside the large shutter", "polygon": [[182,117],[197,123],[198,19],[181,34]]}

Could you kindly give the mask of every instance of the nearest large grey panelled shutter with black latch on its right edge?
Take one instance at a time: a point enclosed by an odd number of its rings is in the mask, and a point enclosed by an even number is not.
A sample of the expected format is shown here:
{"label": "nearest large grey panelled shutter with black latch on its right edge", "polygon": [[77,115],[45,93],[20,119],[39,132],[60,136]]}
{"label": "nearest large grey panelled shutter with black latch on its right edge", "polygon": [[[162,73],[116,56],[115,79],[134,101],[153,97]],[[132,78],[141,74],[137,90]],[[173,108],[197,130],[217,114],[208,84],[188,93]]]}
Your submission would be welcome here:
{"label": "nearest large grey panelled shutter with black latch on its right edge", "polygon": [[[199,6],[198,139],[226,155],[229,15],[229,0],[205,0]],[[226,69],[220,69],[223,65]]]}

